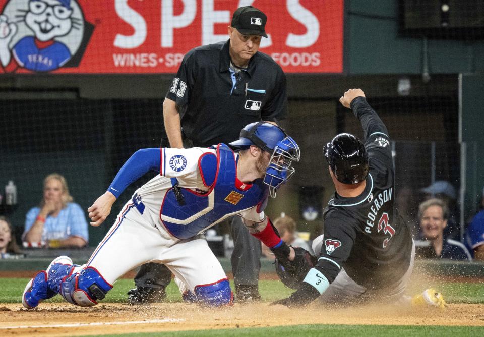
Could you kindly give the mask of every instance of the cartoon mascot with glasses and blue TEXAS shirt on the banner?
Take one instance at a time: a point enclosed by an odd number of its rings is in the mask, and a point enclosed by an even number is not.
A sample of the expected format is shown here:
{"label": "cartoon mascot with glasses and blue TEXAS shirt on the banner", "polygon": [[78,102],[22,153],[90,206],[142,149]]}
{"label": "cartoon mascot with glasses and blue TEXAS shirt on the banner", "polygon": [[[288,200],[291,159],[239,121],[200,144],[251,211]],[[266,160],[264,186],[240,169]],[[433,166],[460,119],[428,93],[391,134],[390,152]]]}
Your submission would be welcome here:
{"label": "cartoon mascot with glasses and blue TEXAS shirt on the banner", "polygon": [[76,0],[10,0],[0,15],[0,63],[4,72],[75,67],[92,30]]}

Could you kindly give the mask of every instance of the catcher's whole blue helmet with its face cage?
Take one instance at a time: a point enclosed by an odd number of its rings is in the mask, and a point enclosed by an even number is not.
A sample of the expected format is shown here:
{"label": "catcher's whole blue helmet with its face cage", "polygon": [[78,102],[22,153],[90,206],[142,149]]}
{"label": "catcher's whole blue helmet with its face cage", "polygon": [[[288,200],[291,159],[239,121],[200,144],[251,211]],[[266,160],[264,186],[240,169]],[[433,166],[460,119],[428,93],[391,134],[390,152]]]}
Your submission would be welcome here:
{"label": "catcher's whole blue helmet with its face cage", "polygon": [[246,125],[240,131],[240,138],[228,145],[235,150],[256,145],[271,154],[264,183],[269,186],[272,198],[276,196],[276,190],[294,174],[292,162],[300,159],[296,142],[280,127],[266,122]]}

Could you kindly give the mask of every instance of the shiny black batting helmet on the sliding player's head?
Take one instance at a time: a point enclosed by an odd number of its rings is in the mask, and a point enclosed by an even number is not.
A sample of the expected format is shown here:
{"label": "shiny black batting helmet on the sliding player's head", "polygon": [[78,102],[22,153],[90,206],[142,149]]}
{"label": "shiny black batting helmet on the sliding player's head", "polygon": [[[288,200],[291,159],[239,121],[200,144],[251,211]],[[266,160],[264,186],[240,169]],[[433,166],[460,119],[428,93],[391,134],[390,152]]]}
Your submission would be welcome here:
{"label": "shiny black batting helmet on the sliding player's head", "polygon": [[368,175],[368,154],[363,143],[349,133],[340,133],[323,149],[331,171],[343,184],[357,184]]}

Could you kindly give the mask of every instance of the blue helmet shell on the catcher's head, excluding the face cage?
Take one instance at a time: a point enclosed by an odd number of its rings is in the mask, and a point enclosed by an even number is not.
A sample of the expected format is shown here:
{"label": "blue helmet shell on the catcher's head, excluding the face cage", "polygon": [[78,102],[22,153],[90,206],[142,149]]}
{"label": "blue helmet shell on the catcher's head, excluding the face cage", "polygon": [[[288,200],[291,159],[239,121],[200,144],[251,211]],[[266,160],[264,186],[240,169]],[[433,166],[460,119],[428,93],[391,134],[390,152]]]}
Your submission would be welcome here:
{"label": "blue helmet shell on the catcher's head, excluding the face cage", "polygon": [[287,137],[284,130],[267,122],[248,124],[240,131],[240,138],[228,145],[234,149],[243,150],[251,145],[257,145],[272,154],[277,143]]}

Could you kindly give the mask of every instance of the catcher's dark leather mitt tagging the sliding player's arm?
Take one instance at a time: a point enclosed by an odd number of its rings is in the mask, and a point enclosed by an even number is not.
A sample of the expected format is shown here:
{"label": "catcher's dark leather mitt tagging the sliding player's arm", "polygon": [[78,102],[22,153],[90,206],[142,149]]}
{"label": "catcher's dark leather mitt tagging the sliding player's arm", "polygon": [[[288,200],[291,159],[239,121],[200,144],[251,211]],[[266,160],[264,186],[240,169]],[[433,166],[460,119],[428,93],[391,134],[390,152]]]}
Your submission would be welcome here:
{"label": "catcher's dark leather mitt tagging the sliding player's arm", "polygon": [[276,273],[286,287],[298,289],[309,269],[318,262],[318,259],[304,248],[292,248],[296,254],[294,261],[276,258]]}

